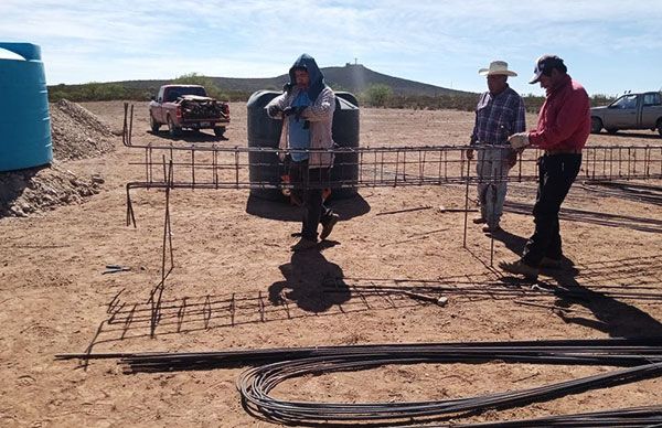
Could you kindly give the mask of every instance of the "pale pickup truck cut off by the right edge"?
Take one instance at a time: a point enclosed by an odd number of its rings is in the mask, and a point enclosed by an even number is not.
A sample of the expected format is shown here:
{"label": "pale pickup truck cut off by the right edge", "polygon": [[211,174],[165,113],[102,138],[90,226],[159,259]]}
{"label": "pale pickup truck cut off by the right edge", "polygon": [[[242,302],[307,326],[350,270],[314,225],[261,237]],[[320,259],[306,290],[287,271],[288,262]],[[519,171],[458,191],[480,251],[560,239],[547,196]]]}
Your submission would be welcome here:
{"label": "pale pickup truck cut off by the right edge", "polygon": [[605,107],[590,109],[590,131],[609,133],[619,129],[658,129],[662,136],[662,93],[626,94]]}

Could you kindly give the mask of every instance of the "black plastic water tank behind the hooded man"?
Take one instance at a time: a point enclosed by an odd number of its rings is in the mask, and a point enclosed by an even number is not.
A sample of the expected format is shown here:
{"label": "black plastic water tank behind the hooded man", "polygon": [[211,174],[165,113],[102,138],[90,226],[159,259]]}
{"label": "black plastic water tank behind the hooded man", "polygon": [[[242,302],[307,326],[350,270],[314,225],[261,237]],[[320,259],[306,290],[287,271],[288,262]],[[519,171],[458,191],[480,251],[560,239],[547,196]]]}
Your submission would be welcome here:
{"label": "black plastic water tank behind the hooded man", "polygon": [[[248,109],[248,147],[278,147],[282,120],[271,119],[265,107],[280,94],[275,90],[258,90],[248,99],[246,105]],[[350,93],[335,93],[332,135],[333,141],[341,148],[359,147],[359,106],[356,97]],[[276,153],[250,152],[248,161],[250,162],[248,174],[252,183],[278,184],[280,182],[281,171]],[[331,169],[331,180],[355,182],[359,178],[357,161],[359,154],[356,152],[337,154]],[[250,194],[271,201],[285,200],[282,193],[277,189],[252,189]],[[333,189],[331,197],[346,199],[355,194],[356,188]]]}

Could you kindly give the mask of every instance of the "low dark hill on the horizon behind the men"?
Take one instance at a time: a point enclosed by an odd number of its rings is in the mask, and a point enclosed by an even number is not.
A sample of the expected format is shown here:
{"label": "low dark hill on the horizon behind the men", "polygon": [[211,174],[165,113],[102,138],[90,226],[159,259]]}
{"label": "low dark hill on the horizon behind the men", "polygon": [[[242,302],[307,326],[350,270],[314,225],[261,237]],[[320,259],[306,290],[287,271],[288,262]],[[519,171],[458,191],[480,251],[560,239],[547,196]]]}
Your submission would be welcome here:
{"label": "low dark hill on the horizon behind the men", "polygon": [[[373,72],[361,64],[345,64],[344,67],[323,67],[327,84],[339,90],[348,90],[359,94],[371,85],[382,84],[391,87],[395,95],[474,95],[463,90],[448,89],[441,86],[426,83],[407,81],[386,74]],[[254,93],[260,89],[281,90],[282,85],[289,82],[289,76],[282,74],[276,77],[265,78],[237,78],[237,77],[211,77],[222,90],[239,90]],[[156,88],[168,81],[131,81],[119,82],[125,87],[131,88]]]}

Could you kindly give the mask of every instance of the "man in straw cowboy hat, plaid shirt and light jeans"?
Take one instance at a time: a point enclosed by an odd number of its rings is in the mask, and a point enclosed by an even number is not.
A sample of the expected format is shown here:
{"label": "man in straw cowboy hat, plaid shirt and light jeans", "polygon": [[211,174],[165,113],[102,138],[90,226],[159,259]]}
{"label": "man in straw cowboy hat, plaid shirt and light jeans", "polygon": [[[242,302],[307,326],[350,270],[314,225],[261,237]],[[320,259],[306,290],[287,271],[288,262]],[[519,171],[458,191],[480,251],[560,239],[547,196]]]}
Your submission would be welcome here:
{"label": "man in straw cowboy hat, plaid shirt and light jeans", "polygon": [[[469,143],[479,148],[476,171],[480,216],[473,218],[473,223],[485,223],[483,232],[493,233],[501,229],[499,222],[508,190],[508,171],[517,159],[508,137],[526,129],[524,101],[508,85],[508,77],[517,73],[508,69],[506,62],[492,61],[489,68],[481,68],[478,74],[487,76],[489,90],[478,100]],[[472,148],[467,150],[467,157],[473,159]]]}

